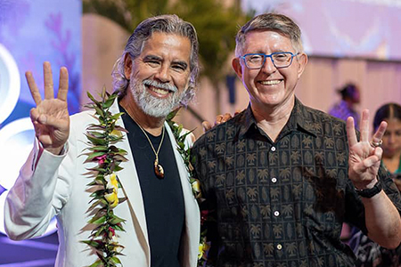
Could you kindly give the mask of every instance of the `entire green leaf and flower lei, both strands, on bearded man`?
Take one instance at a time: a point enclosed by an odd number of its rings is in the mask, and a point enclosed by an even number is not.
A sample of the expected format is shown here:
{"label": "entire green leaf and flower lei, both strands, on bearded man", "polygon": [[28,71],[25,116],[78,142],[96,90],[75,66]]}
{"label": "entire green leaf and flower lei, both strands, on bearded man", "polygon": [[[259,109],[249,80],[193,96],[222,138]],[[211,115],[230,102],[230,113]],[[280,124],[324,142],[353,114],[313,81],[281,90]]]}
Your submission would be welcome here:
{"label": "entire green leaf and flower lei, both strands, on bearded man", "polygon": [[[122,141],[123,135],[121,132],[127,133],[127,130],[116,125],[119,117],[124,113],[111,114],[109,111],[118,97],[118,93],[107,93],[105,87],[103,87],[101,101],[96,101],[91,93],[87,93],[87,96],[92,103],[86,105],[86,107],[94,109],[94,117],[99,121],[99,125],[92,124],[86,128],[86,138],[88,140],[86,142],[88,144],[86,150],[89,150],[89,152],[83,153],[83,155],[87,156],[85,163],[97,163],[97,166],[88,168],[89,172],[86,173],[90,178],[93,178],[93,181],[87,184],[87,186],[94,188],[94,192],[90,195],[92,197],[90,203],[93,204],[88,209],[88,213],[94,213],[94,216],[88,223],[94,224],[95,228],[91,232],[89,239],[82,242],[92,247],[99,258],[89,267],[114,267],[117,264],[121,264],[118,256],[123,255],[121,251],[124,249],[119,244],[116,231],[124,231],[122,223],[125,223],[126,220],[115,215],[113,209],[127,199],[118,197],[118,189],[121,185],[116,174],[123,169],[119,166],[120,163],[127,161],[127,158],[125,158],[127,151],[117,148],[115,144]],[[178,109],[168,115],[167,122],[176,138],[177,150],[187,168],[193,196],[200,204],[203,200],[201,198],[201,183],[193,178],[191,149],[185,149],[184,144],[185,138],[192,132],[182,134],[183,125],[177,125],[172,120],[177,111]],[[201,212],[201,226],[207,220],[207,214],[207,211]],[[206,233],[206,230],[201,229],[198,266],[203,266],[207,260],[210,246],[206,240]]]}

